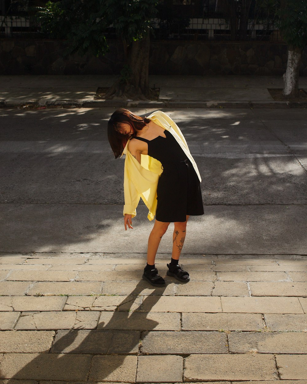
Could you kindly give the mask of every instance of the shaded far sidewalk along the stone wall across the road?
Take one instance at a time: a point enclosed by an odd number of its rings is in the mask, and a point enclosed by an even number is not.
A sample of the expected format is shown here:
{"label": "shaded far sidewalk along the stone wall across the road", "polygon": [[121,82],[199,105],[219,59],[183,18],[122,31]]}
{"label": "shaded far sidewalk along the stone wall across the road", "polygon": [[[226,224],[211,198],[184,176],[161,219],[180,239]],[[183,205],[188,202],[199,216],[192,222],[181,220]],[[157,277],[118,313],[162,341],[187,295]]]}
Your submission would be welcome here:
{"label": "shaded far sidewalk along the stone wall across the road", "polygon": [[[283,88],[281,76],[149,76],[160,88],[158,101],[95,100],[98,87],[109,87],[116,76],[0,76],[0,107],[65,106],[101,108],[284,108],[307,102],[274,101],[268,88]],[[299,87],[307,91],[307,77]]]}

